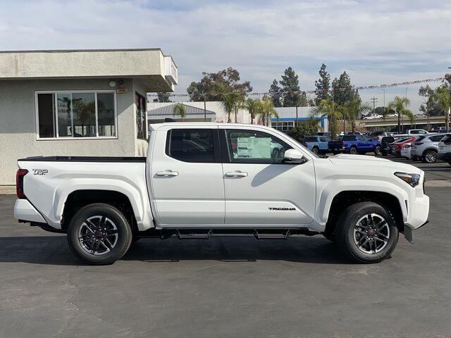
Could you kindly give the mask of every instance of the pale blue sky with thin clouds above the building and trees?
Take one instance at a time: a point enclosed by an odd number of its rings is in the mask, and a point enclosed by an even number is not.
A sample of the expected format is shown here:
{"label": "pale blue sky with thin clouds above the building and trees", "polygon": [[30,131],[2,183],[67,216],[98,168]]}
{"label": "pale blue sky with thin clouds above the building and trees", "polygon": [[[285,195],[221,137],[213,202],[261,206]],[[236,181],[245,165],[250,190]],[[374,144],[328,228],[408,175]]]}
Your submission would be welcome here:
{"label": "pale blue sky with thin clouds above the building and trees", "polygon": [[[160,47],[178,65],[177,93],[227,67],[254,92],[289,66],[314,89],[321,63],[356,86],[443,77],[450,34],[450,0],[0,0],[1,50]],[[419,85],[385,89],[385,103],[406,89],[418,111]],[[381,89],[360,95],[383,106]]]}

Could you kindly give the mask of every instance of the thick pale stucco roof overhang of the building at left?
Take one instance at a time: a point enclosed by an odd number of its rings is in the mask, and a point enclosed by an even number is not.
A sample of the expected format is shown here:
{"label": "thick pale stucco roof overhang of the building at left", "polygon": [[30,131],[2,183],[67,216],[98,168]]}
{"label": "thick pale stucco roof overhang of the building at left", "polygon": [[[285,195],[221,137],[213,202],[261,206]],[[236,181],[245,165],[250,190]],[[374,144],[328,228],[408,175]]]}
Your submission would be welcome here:
{"label": "thick pale stucco roof overhang of the building at left", "polygon": [[139,79],[147,92],[173,92],[178,69],[161,49],[0,51],[0,80]]}

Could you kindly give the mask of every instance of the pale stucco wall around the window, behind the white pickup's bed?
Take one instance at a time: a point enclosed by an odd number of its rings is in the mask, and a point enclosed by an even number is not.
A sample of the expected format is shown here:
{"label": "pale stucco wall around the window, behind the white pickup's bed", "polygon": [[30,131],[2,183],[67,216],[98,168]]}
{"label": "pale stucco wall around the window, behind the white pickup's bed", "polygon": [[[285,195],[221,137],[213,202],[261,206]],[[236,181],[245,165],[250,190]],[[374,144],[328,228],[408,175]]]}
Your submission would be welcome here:
{"label": "pale stucco wall around the window, behind the white pickup's bed", "polygon": [[[18,158],[27,156],[135,156],[144,148],[136,139],[135,89],[125,80],[127,93],[117,94],[117,139],[37,140],[36,90],[111,89],[108,79],[0,81],[0,185],[15,184]],[[145,91],[142,93],[145,97]],[[145,141],[144,141],[145,142]],[[139,146],[137,146],[139,144]],[[147,149],[147,148],[146,148]]]}

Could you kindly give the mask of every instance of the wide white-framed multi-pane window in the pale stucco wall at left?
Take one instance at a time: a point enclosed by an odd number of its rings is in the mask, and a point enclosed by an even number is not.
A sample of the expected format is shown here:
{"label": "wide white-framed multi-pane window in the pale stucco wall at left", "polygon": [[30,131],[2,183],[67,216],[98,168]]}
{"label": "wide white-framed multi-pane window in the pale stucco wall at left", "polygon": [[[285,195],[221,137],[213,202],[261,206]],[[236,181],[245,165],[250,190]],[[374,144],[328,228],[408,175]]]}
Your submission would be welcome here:
{"label": "wide white-framed multi-pane window in the pale stucco wall at left", "polygon": [[39,139],[116,137],[116,92],[37,92]]}

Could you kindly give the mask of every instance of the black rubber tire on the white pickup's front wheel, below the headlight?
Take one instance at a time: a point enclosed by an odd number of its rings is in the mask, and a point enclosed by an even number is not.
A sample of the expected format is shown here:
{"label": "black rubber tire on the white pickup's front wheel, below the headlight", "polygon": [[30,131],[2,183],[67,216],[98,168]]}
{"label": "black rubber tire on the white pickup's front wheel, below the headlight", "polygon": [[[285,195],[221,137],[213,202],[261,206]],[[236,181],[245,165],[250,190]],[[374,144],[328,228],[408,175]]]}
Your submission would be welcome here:
{"label": "black rubber tire on the white pickup's front wheel, below the headlight", "polygon": [[[363,239],[365,243],[368,243],[370,251],[370,253],[368,253],[364,251],[364,248],[359,249],[359,246],[356,244],[357,234],[354,233],[354,231],[356,231],[354,229],[360,219],[371,214],[380,216],[385,220],[383,227],[385,234],[388,234],[388,240],[386,243],[384,242],[385,244],[378,244],[381,245],[380,251],[375,248],[374,252],[371,252],[373,251],[373,243],[383,242],[381,241],[383,234],[373,230],[373,237],[371,238],[372,242],[368,242],[370,240],[368,237],[369,234],[366,235],[366,239],[364,238],[363,233],[362,235],[358,234],[359,236],[362,236],[360,238]],[[369,231],[371,231],[371,227]],[[376,242],[376,239],[374,239],[375,236],[378,237],[379,242]],[[335,238],[338,244],[338,249],[340,249],[345,256],[350,258],[350,260],[358,263],[378,263],[390,256],[393,250],[395,250],[397,240],[399,238],[399,230],[395,224],[395,220],[393,220],[393,215],[383,208],[383,206],[373,202],[359,202],[349,206],[342,212],[335,227]]]}

